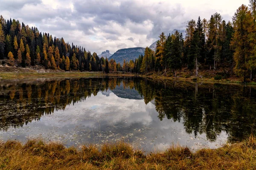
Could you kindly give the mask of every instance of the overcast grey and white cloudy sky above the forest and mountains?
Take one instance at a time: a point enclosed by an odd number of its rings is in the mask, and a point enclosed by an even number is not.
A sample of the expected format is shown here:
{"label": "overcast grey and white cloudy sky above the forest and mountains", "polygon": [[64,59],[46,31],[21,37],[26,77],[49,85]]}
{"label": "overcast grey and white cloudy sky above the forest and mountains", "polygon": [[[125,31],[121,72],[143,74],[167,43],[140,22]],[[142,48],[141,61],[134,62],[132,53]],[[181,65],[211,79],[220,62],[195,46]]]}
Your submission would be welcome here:
{"label": "overcast grey and white cloudy sky above the forest and mountains", "polygon": [[198,16],[232,20],[249,0],[0,0],[0,14],[101,54],[146,47]]}

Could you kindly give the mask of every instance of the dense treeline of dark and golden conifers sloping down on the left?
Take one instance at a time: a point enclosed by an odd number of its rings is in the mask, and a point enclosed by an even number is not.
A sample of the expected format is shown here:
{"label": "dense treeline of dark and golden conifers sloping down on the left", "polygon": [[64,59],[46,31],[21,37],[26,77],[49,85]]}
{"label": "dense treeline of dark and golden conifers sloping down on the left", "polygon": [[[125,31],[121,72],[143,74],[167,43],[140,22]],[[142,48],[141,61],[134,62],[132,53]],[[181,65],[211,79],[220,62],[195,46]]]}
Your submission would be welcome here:
{"label": "dense treeline of dark and golden conifers sloping down on the left", "polygon": [[[69,44],[63,38],[41,33],[36,27],[19,20],[0,16],[0,59],[11,66],[42,65],[47,69],[65,71],[102,71],[105,59],[91,54],[84,47]],[[1,63],[0,63],[1,64]]]}

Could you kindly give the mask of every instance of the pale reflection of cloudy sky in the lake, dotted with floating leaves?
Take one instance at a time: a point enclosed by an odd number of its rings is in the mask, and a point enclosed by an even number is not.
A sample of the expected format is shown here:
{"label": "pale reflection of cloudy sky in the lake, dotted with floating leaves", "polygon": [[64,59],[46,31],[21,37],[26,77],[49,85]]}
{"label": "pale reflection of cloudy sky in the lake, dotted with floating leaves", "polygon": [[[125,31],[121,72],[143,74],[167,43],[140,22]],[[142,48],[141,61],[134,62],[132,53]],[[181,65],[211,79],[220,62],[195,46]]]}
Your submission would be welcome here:
{"label": "pale reflection of cloudy sky in the lake, dotted with floating leaves", "polygon": [[[221,133],[216,142],[207,142],[205,134],[186,134],[183,119],[158,119],[154,102],[145,105],[144,100],[125,99],[116,96],[110,90],[106,94],[98,93],[84,102],[69,105],[65,110],[43,116],[38,122],[33,121],[23,128],[17,128],[15,138],[39,136],[51,140],[60,140],[68,145],[76,142],[114,142],[124,137],[147,151],[164,150],[172,144],[187,145],[192,148],[202,146],[217,147],[220,141],[227,139]],[[100,128],[100,131],[99,131]],[[12,136],[10,130],[9,137]],[[2,134],[3,132],[0,132]],[[12,136],[14,137],[14,136]]]}

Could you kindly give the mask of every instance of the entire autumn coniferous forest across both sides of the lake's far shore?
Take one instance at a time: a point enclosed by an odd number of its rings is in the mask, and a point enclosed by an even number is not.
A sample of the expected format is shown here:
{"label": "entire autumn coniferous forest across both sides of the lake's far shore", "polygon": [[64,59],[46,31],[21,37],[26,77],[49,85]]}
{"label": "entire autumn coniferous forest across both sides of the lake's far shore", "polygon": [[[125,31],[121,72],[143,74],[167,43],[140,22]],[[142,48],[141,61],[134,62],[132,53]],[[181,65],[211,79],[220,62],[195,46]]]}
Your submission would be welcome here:
{"label": "entire autumn coniferous forest across both sides of the lake's far shore", "polygon": [[26,26],[19,20],[0,17],[1,64],[30,67],[41,65],[46,69],[64,71],[117,71],[146,74],[177,71],[186,68],[195,71],[218,71],[236,75],[244,81],[253,80],[256,74],[256,0],[249,6],[241,5],[232,21],[225,21],[215,13],[209,19],[190,20],[186,35],[161,33],[155,51],[145,48],[145,55],[135,61],[116,63],[99,58],[84,47],[52,37],[36,27]]}

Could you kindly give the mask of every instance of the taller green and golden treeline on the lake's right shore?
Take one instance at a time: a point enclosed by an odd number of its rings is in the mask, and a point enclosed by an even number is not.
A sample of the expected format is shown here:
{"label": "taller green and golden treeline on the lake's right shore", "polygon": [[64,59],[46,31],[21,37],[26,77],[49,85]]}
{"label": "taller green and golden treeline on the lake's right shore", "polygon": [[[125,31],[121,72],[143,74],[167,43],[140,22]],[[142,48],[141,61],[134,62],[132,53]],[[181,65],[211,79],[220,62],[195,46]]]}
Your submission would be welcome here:
{"label": "taller green and golden treeline on the lake's right shore", "polygon": [[168,70],[173,72],[182,67],[195,69],[198,76],[199,67],[218,70],[230,67],[244,81],[253,79],[256,68],[256,0],[250,0],[249,7],[240,6],[233,22],[226,22],[221,14],[212,14],[209,20],[197,22],[190,20],[186,27],[186,36],[176,31],[172,35],[160,34],[156,51],[145,49],[145,55],[134,62],[126,62],[124,71],[147,73]]}

